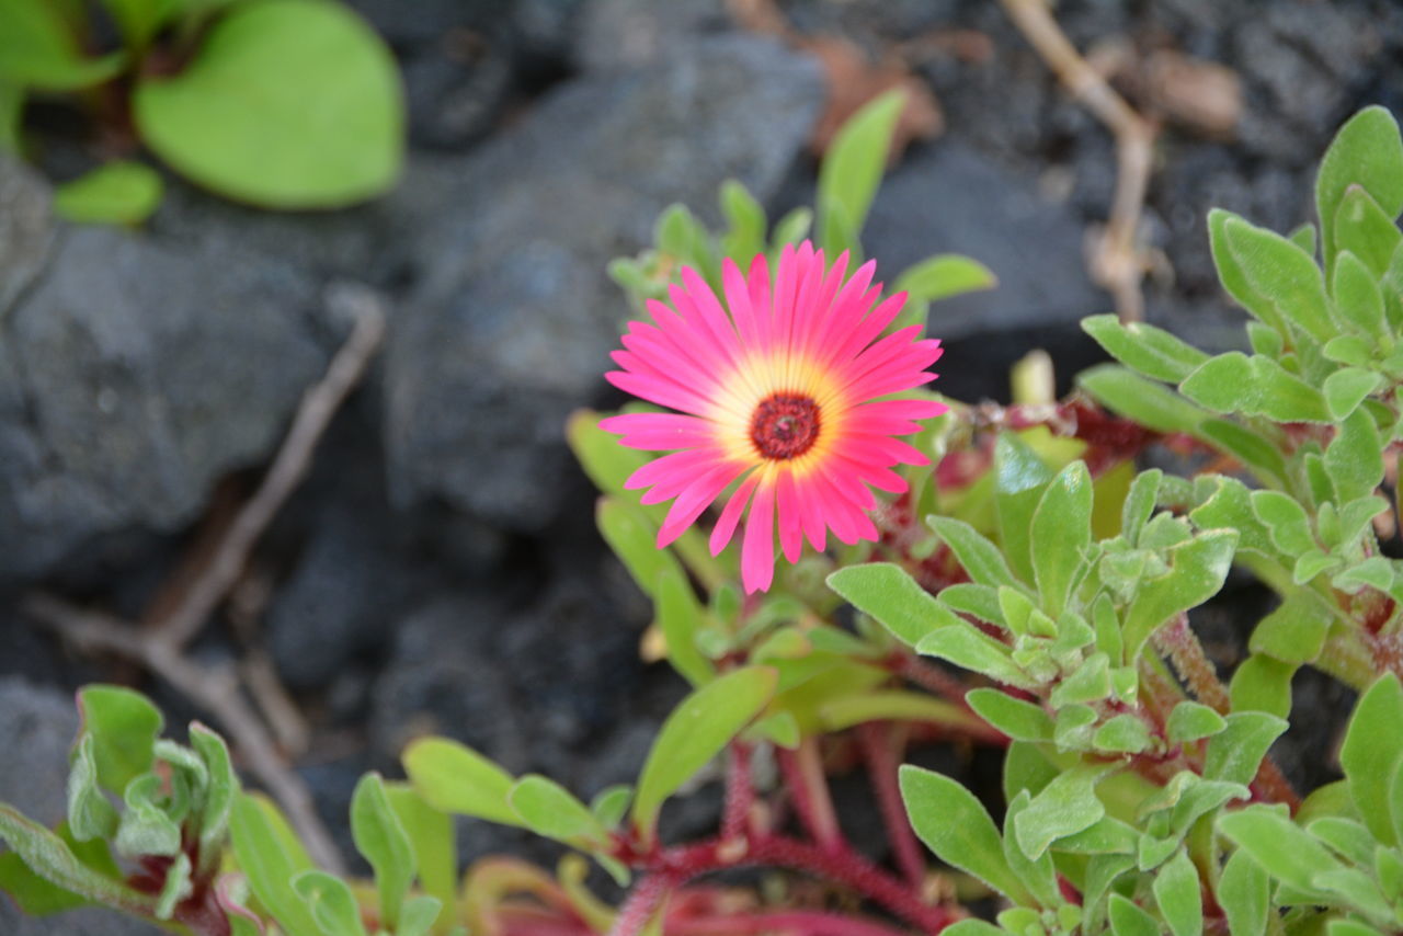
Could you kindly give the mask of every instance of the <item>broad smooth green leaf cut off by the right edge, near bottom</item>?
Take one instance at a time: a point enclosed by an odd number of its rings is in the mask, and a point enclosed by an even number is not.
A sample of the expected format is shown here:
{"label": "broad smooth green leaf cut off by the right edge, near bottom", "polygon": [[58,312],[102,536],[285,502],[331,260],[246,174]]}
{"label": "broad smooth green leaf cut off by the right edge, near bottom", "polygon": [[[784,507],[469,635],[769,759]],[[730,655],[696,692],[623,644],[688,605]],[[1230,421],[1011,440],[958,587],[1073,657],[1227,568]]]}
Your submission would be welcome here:
{"label": "broad smooth green leaf cut off by the right edge, near bottom", "polygon": [[1375,681],[1360,697],[1340,748],[1340,766],[1350,782],[1350,797],[1364,824],[1385,845],[1397,845],[1389,821],[1389,782],[1403,762],[1403,686],[1395,674]]}

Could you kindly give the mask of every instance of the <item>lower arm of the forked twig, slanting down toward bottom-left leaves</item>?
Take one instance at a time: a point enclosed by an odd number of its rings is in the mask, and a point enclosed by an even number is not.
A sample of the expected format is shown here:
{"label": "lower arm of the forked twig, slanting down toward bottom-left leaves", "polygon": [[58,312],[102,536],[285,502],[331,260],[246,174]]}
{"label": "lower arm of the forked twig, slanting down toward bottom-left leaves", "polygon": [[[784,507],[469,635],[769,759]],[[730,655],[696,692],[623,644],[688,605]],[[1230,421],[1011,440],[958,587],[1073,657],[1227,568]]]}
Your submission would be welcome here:
{"label": "lower arm of the forked twig, slanting down toward bottom-left leaves", "polygon": [[268,730],[240,692],[239,679],[227,668],[194,664],[167,641],[152,639],[121,617],[77,608],[52,595],[28,596],[22,610],[81,647],[142,664],[209,711],[234,741],[248,769],[288,813],[313,860],[330,871],[345,873],[341,852],[317,815],[311,793],[278,754]]}

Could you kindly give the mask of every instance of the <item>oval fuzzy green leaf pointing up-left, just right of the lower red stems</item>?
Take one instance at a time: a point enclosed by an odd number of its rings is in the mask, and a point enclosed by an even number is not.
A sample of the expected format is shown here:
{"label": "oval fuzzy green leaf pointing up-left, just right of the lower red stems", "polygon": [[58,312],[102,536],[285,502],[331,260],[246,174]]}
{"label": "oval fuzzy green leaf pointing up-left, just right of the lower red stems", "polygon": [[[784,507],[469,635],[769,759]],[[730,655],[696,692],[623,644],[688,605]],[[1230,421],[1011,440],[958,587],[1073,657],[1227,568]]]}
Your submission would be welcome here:
{"label": "oval fuzzy green leaf pointing up-left, just right of the lower red stems", "polygon": [[1009,900],[1035,907],[1003,852],[999,829],[984,804],[950,777],[905,765],[901,798],[916,835],[946,864],[974,874]]}

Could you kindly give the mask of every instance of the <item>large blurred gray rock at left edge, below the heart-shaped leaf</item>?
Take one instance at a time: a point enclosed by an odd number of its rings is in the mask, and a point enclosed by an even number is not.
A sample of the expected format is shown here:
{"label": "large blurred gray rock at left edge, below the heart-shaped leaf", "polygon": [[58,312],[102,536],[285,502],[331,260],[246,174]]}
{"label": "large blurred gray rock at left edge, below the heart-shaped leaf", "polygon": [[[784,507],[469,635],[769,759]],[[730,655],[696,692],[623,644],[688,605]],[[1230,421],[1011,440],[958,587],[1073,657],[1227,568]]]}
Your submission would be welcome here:
{"label": "large blurred gray rock at left edge, below the heart-shaped leaf", "polygon": [[0,321],[0,580],[180,529],[264,460],[325,366],[318,306],[282,264],[65,229]]}

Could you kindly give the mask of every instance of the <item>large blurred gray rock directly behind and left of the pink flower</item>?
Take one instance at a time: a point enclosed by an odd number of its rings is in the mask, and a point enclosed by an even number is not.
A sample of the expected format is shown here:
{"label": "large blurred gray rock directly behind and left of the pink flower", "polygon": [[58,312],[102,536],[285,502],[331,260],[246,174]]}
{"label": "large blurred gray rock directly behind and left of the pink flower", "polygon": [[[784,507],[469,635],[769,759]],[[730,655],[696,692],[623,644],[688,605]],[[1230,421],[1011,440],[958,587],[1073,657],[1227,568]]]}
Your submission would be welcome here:
{"label": "large blurred gray rock directly behind and left of the pink flower", "polygon": [[817,66],[773,42],[697,42],[563,86],[463,161],[442,198],[464,208],[419,233],[419,288],[386,358],[396,501],[544,528],[572,470],[565,415],[603,387],[627,316],[605,265],[671,202],[714,218],[725,178],[766,201],[822,95]]}

